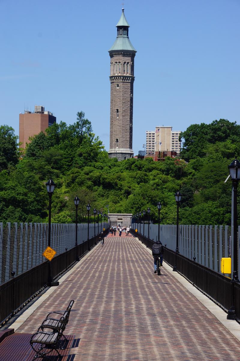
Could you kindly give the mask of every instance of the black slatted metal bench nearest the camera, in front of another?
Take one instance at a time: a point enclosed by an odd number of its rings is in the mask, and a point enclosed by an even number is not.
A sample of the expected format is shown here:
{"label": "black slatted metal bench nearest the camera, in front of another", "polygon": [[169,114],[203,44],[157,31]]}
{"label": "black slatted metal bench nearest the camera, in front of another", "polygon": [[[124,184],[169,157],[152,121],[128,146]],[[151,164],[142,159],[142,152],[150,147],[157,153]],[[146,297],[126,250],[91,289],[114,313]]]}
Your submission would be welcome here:
{"label": "black slatted metal bench nearest the camera, in front of another", "polygon": [[[56,326],[56,330],[53,332],[44,332],[44,331],[37,331],[34,335],[32,335],[30,339],[30,345],[32,349],[36,352],[36,355],[34,358],[48,358],[49,360],[52,360],[52,358],[48,357],[47,355],[52,352],[54,349],[57,353],[59,358],[62,358],[60,353],[57,349],[58,341],[60,340],[62,336],[61,327],[64,324],[64,317],[61,317],[58,321],[58,324]],[[38,345],[41,344],[39,348]],[[36,346],[37,345],[37,346]]]}

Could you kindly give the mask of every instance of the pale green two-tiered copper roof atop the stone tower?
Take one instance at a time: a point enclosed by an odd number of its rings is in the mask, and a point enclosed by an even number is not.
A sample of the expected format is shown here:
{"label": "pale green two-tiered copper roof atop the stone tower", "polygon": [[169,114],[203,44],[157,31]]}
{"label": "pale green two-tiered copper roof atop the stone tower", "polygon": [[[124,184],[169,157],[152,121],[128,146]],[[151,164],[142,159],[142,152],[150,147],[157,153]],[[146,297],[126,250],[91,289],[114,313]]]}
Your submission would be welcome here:
{"label": "pale green two-tiered copper roof atop the stone tower", "polygon": [[128,22],[124,15],[124,8],[122,8],[122,15],[119,22],[116,25],[117,27],[117,39],[113,46],[109,49],[109,52],[118,51],[118,50],[126,50],[126,51],[134,51],[137,52],[135,48],[133,48],[132,43],[128,38]]}

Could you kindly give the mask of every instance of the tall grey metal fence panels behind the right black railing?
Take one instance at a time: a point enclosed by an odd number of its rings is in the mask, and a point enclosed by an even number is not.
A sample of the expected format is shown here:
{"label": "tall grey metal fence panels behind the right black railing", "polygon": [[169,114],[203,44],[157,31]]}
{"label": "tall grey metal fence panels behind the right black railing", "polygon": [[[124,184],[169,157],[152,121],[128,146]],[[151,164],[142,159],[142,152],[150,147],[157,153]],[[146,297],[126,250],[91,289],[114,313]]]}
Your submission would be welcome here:
{"label": "tall grey metal fence panels behind the right black railing", "polygon": [[[137,229],[143,235],[143,224],[132,222],[132,228]],[[168,249],[176,249],[176,225],[160,225],[160,240]],[[231,257],[231,226],[205,226],[205,225],[180,225],[179,226],[179,253],[190,260],[196,258],[196,262],[221,274],[221,258]],[[148,224],[145,223],[144,235],[148,238]],[[238,244],[240,226],[238,227]],[[158,225],[149,225],[149,239],[156,241],[158,238]],[[237,260],[240,258],[238,247]],[[233,265],[232,265],[233,268]],[[240,262],[238,262],[238,274],[240,274]],[[231,275],[228,275],[231,277]]]}

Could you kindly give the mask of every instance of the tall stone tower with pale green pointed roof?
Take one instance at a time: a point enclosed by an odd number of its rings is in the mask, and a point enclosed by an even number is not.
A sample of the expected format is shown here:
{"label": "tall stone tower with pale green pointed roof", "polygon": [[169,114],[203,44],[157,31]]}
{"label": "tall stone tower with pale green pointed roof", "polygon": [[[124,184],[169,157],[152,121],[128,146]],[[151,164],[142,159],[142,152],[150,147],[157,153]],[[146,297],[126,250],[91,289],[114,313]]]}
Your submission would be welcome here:
{"label": "tall stone tower with pale green pointed roof", "polygon": [[133,157],[132,110],[134,58],[136,50],[128,38],[128,22],[122,8],[117,27],[117,39],[110,55],[110,158],[119,161]]}

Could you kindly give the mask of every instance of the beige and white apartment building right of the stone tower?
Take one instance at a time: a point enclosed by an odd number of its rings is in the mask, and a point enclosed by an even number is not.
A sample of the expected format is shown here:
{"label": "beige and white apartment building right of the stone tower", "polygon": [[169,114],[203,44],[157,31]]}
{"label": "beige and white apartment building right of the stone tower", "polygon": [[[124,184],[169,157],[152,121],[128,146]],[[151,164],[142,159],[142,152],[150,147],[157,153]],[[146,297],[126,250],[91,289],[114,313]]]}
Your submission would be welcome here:
{"label": "beige and white apartment building right of the stone tower", "polygon": [[180,153],[181,142],[178,138],[181,131],[173,131],[172,127],[155,127],[155,131],[146,131],[146,155],[156,152],[175,151]]}

